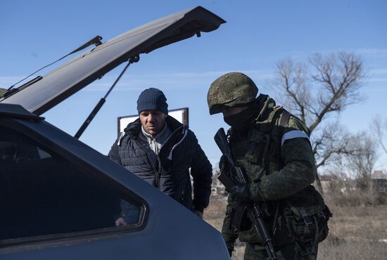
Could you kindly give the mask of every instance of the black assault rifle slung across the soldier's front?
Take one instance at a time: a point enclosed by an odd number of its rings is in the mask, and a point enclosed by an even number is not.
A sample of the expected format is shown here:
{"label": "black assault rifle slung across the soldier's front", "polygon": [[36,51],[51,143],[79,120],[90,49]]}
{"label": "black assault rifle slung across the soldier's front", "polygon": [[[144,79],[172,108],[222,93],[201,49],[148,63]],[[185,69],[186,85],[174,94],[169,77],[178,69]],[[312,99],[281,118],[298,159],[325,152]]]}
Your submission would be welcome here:
{"label": "black assault rifle slung across the soldier's front", "polygon": [[[224,158],[227,160],[229,167],[231,168],[231,174],[230,172],[220,172],[220,174],[217,176],[219,181],[224,185],[227,191],[231,190],[232,186],[248,183],[243,169],[236,165],[234,162],[234,159],[231,155],[231,149],[229,148],[229,143],[227,141],[227,136],[224,134],[223,128],[220,128],[217,131],[214,139],[215,143],[224,155]],[[265,222],[263,221],[262,209],[257,203],[251,203],[247,205],[247,209],[250,221],[253,223],[254,228],[258,233],[262,245],[265,246],[267,254],[269,255],[269,259],[276,259],[272,238],[270,237]]]}

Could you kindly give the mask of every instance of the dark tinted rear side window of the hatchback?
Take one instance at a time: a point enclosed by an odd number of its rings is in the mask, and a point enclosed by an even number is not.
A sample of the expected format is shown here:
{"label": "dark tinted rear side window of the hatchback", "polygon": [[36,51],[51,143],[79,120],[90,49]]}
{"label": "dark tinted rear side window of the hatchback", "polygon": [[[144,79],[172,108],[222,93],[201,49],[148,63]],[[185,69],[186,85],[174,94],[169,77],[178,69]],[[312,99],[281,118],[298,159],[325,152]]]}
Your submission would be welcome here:
{"label": "dark tinted rear side window of the hatchback", "polygon": [[0,240],[138,226],[141,205],[96,176],[0,126]]}

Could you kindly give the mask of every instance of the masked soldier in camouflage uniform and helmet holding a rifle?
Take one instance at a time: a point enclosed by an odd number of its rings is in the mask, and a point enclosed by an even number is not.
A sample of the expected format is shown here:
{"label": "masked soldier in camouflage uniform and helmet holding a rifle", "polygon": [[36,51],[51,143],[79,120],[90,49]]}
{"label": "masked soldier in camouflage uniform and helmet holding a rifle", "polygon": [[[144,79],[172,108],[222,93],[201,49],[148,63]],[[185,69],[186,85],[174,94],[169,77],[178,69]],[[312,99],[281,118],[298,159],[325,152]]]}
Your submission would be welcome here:
{"label": "masked soldier in camouflage uniform and helmet holding a rifle", "polygon": [[[243,210],[258,203],[277,259],[316,259],[331,212],[311,185],[316,166],[309,129],[272,98],[257,94],[253,80],[239,72],[222,75],[208,91],[210,115],[222,112],[231,126],[232,156],[248,178],[229,192],[222,235],[230,256],[239,238],[246,242],[244,259],[267,259],[250,214]],[[231,174],[223,158],[220,171]]]}

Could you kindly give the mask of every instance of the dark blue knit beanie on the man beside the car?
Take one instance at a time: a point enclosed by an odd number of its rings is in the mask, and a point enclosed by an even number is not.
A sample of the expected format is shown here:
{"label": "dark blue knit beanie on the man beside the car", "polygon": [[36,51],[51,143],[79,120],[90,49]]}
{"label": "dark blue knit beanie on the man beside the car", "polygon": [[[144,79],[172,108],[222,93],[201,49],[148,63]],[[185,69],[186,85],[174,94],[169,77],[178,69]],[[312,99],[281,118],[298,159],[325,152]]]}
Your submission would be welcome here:
{"label": "dark blue knit beanie on the man beside the car", "polygon": [[158,110],[168,115],[167,98],[160,89],[150,88],[141,92],[137,100],[139,114],[144,110]]}

